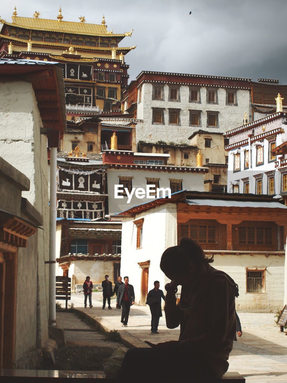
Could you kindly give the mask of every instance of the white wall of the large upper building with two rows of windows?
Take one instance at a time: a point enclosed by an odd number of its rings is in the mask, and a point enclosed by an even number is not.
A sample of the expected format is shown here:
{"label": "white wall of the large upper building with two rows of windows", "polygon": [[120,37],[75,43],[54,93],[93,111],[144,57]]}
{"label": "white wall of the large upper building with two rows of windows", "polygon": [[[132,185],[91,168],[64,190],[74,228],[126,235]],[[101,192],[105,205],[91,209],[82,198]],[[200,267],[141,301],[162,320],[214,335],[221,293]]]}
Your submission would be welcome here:
{"label": "white wall of the large upper building with two rows of windows", "polygon": [[[208,130],[210,132],[224,133],[233,126],[240,126],[243,122],[244,112],[249,114],[249,90],[236,90],[238,106],[226,105],[226,90],[217,89],[218,103],[207,103],[207,88],[201,87],[201,103],[189,102],[189,86],[181,85],[180,101],[168,101],[168,85],[164,85],[164,100],[152,100],[151,83],[143,83],[142,85],[142,101],[137,105],[137,118],[143,119],[143,125],[137,130],[137,140],[146,142],[175,142],[186,143],[188,137],[199,129]],[[165,108],[165,124],[152,124],[152,108]],[[168,108],[180,108],[180,125],[170,125],[168,123]],[[201,110],[201,126],[189,126],[189,109]],[[217,128],[207,128],[206,111],[219,111]]]}

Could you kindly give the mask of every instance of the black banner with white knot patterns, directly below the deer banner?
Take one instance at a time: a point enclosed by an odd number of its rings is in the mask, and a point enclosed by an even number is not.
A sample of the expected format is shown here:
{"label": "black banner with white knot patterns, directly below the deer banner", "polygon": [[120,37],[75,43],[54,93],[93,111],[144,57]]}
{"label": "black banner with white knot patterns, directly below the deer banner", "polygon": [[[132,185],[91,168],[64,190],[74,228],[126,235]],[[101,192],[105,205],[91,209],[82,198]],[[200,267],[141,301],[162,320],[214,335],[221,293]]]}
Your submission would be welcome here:
{"label": "black banner with white knot patterns, directly below the deer banner", "polygon": [[58,200],[58,218],[96,219],[104,217],[102,201],[65,201]]}

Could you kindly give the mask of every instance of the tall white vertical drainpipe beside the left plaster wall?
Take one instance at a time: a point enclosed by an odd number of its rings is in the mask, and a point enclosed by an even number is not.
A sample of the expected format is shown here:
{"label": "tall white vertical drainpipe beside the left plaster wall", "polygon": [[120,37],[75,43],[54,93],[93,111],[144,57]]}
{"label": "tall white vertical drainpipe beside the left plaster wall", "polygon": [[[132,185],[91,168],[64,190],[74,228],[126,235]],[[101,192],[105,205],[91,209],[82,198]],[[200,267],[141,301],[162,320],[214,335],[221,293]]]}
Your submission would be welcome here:
{"label": "tall white vertical drainpipe beside the left plaster wall", "polygon": [[49,324],[56,325],[56,187],[57,148],[51,147],[50,159],[50,241],[49,241]]}

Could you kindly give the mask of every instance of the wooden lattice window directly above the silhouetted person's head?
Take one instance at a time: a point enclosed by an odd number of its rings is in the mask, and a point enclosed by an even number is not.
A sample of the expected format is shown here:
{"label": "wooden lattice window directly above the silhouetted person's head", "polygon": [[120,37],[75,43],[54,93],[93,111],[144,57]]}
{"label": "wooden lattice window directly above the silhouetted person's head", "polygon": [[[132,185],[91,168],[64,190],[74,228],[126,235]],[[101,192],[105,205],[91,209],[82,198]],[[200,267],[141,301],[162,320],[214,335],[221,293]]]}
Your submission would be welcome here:
{"label": "wooden lattice window directly above the silhouetted person's head", "polygon": [[179,240],[189,237],[199,244],[216,244],[217,225],[210,224],[191,224],[179,225]]}

